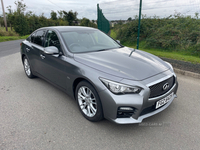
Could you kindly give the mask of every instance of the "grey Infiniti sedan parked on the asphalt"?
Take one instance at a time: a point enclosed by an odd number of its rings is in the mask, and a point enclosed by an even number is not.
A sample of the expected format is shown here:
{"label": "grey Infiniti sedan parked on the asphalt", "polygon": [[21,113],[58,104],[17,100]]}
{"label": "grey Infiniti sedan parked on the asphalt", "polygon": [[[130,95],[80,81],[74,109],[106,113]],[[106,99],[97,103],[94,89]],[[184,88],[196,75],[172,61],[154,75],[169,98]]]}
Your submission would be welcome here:
{"label": "grey Infiniti sedan parked on the asphalt", "polygon": [[20,45],[27,77],[65,91],[89,121],[140,123],[177,97],[170,63],[125,47],[96,28],[43,27]]}

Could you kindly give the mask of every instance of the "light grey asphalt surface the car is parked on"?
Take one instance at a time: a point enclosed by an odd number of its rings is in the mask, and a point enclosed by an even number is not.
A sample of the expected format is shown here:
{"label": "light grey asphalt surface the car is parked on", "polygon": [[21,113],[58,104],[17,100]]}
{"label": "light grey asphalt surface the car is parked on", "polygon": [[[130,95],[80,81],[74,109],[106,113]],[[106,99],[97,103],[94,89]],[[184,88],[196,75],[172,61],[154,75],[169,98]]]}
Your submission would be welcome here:
{"label": "light grey asphalt surface the car is parked on", "polygon": [[143,124],[92,123],[65,93],[40,78],[28,79],[19,53],[1,57],[0,150],[198,150],[200,80],[178,80],[178,98]]}

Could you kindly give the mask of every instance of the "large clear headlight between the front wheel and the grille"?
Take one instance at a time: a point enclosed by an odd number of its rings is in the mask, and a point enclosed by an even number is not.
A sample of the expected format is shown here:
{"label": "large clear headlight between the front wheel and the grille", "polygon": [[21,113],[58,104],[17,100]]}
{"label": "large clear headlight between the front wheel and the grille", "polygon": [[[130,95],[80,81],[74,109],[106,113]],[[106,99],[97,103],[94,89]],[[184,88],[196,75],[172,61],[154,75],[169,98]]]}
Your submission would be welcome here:
{"label": "large clear headlight between the front wheel and the grille", "polygon": [[103,78],[100,78],[100,80],[114,94],[126,94],[126,93],[136,94],[140,93],[140,91],[142,90],[142,88],[140,87],[125,85]]}

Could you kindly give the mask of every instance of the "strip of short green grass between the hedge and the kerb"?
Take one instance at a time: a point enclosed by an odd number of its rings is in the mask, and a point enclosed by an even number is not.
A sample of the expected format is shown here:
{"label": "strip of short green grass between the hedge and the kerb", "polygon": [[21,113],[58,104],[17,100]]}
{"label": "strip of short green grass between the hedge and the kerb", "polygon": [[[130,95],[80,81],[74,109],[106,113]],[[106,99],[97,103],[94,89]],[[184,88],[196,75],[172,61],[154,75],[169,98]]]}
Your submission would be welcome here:
{"label": "strip of short green grass between the hedge and the kerb", "polygon": [[[116,33],[113,30],[111,30],[110,36],[112,38],[116,39]],[[122,43],[122,44],[127,47],[136,48],[136,43],[133,43],[133,44]],[[163,51],[161,49],[145,48],[144,42],[140,42],[139,49],[146,51],[148,53],[151,53],[153,55],[156,55],[158,57],[165,57],[165,58],[170,58],[170,59],[175,59],[175,60],[181,60],[181,61],[191,62],[194,64],[200,63],[199,57],[191,56],[184,52],[175,52],[175,51],[169,52],[169,51]]]}

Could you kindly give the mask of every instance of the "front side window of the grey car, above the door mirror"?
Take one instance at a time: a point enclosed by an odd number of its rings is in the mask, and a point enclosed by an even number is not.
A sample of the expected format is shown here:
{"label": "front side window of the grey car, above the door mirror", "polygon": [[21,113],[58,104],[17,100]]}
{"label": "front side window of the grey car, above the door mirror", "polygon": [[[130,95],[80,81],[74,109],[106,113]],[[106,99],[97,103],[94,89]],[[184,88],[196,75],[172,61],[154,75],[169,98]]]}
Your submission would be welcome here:
{"label": "front side window of the grey car, above the door mirror", "polygon": [[60,41],[54,31],[49,30],[45,41],[45,47],[55,46],[60,51]]}

